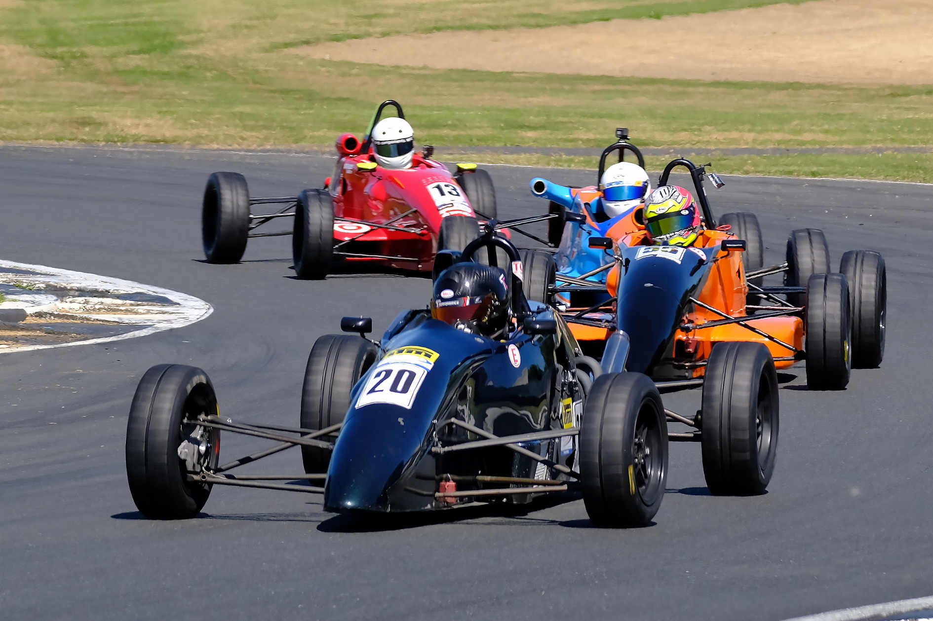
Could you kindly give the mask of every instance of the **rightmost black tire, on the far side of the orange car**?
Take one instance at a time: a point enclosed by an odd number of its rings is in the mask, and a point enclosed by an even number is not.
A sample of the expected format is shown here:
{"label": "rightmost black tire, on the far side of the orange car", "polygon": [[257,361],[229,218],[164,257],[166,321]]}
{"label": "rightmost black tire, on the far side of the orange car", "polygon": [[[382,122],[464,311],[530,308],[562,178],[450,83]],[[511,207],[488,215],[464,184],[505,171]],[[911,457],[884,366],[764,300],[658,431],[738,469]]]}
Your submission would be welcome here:
{"label": "rightmost black tire, on the far side of the orange car", "polygon": [[852,366],[875,368],[884,358],[887,273],[884,258],[870,250],[842,255],[839,271],[849,283],[852,311]]}

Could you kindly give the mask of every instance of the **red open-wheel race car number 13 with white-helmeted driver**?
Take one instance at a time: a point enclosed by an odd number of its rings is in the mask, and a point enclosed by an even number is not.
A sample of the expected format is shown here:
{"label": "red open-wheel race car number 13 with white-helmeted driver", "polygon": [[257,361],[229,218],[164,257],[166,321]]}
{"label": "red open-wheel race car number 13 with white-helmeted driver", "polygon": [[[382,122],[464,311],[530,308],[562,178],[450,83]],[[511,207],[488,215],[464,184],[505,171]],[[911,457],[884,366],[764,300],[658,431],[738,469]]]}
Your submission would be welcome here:
{"label": "red open-wheel race car number 13 with white-helmeted driver", "polygon": [[[387,106],[396,117],[383,118]],[[489,173],[457,164],[456,173],[431,159],[434,147],[414,152],[414,134],[401,105],[380,104],[369,132],[337,139],[337,166],[324,188],[297,197],[250,198],[240,173],[213,173],[204,189],[202,237],[210,263],[237,263],[251,237],[292,236],[300,279],[322,279],[339,263],[430,271],[439,250],[463,250],[480,234],[478,218],[496,216]],[[253,205],[283,204],[272,214]],[[292,217],[292,230],[254,232]]]}

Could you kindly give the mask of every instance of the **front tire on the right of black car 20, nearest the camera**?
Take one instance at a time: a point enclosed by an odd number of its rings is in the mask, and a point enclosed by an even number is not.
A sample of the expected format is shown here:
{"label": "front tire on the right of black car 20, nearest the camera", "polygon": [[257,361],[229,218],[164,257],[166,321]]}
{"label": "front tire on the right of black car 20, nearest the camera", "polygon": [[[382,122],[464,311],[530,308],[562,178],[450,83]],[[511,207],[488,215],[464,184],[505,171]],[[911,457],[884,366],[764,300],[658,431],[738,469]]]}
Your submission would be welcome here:
{"label": "front tire on the right of black car 20, nearest the camera", "polygon": [[641,373],[596,378],[579,432],[583,504],[593,526],[648,526],[667,482],[661,394]]}

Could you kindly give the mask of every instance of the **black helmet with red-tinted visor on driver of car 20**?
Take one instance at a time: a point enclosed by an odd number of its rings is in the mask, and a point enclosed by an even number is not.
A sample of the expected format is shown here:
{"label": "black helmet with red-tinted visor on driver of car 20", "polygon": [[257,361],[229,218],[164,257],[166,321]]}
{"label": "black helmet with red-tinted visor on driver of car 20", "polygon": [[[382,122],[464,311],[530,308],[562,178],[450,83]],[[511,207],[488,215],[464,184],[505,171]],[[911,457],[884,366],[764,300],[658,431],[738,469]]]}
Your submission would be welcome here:
{"label": "black helmet with red-tinted visor on driver of car 20", "polygon": [[434,283],[431,316],[487,337],[508,322],[506,272],[480,263],[455,263]]}

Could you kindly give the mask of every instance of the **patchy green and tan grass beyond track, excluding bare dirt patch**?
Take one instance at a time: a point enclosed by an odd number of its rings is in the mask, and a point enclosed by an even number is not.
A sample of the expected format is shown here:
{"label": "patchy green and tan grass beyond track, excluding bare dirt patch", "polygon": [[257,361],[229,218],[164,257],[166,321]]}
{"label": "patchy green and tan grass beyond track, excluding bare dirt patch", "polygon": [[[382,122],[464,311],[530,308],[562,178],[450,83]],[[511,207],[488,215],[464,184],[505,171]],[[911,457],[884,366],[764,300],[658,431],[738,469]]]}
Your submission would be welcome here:
{"label": "patchy green and tan grass beyond track, excluding bare dirt patch", "polygon": [[[509,74],[316,61],[292,46],[372,34],[659,17],[773,2],[0,0],[0,141],[326,145],[396,98],[420,142],[929,145],[933,87]],[[478,159],[482,159],[479,156]],[[492,156],[486,156],[490,159]],[[591,159],[500,157],[513,162]],[[926,156],[716,158],[717,171],[933,180]],[[846,174],[846,172],[850,172]]]}

